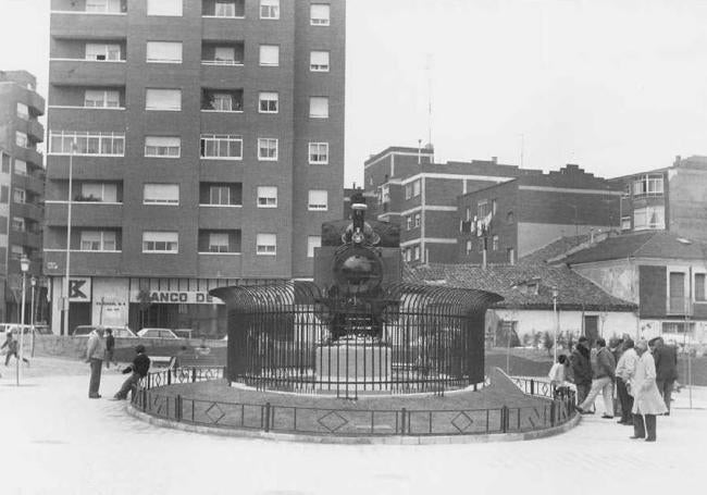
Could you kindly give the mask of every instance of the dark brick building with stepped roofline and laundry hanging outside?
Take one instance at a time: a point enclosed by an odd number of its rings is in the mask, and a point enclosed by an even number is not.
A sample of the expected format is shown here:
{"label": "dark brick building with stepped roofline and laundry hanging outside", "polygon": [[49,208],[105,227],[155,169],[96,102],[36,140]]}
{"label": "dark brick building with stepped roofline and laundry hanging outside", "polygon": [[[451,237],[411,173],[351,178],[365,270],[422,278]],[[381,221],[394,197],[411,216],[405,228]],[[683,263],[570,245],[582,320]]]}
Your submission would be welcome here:
{"label": "dark brick building with stepped roofline and laundry hanging outside", "polygon": [[488,263],[513,263],[559,237],[618,231],[620,198],[620,186],[574,164],[468,193],[458,200],[458,261],[482,263],[484,243]]}

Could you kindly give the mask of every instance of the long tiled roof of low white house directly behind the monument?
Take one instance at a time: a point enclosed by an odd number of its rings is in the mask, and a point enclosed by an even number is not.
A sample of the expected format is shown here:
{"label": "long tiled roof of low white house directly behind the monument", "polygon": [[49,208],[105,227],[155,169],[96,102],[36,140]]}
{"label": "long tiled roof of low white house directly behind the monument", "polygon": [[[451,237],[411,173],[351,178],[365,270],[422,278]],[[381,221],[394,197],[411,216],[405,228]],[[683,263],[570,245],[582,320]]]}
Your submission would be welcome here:
{"label": "long tiled roof of low white house directly behind the monument", "polygon": [[[558,288],[558,308],[587,311],[633,311],[636,306],[605,293],[599,286],[569,268],[546,264],[491,265],[426,264],[406,267],[404,280],[410,283],[477,288],[496,293],[500,308],[553,309],[553,286]],[[524,289],[538,284],[537,294]]]}

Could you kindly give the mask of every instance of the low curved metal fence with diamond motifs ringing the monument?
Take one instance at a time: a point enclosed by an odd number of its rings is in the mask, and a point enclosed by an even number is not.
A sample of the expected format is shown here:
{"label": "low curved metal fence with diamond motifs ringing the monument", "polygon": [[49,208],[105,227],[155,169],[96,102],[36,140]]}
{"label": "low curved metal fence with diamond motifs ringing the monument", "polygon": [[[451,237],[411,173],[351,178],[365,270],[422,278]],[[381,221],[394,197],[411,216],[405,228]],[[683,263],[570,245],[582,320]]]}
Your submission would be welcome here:
{"label": "low curved metal fence with diamond motifs ringing the monument", "polygon": [[430,436],[522,433],[566,423],[574,393],[556,393],[545,382],[513,380],[536,406],[488,409],[354,409],[228,403],[187,397],[169,385],[224,378],[223,368],[189,368],[150,373],[133,395],[133,406],[152,417],[202,426],[322,436]]}

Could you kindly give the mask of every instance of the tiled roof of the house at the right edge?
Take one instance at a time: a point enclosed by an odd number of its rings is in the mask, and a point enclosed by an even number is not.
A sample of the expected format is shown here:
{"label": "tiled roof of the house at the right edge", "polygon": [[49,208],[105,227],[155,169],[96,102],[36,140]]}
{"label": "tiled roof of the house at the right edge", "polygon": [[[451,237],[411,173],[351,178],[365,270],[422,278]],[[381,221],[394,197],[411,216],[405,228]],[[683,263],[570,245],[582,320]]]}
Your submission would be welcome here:
{"label": "tiled roof of the house at the right edge", "polygon": [[567,264],[591,263],[627,258],[704,260],[707,244],[685,239],[670,232],[640,232],[607,237],[561,261]]}

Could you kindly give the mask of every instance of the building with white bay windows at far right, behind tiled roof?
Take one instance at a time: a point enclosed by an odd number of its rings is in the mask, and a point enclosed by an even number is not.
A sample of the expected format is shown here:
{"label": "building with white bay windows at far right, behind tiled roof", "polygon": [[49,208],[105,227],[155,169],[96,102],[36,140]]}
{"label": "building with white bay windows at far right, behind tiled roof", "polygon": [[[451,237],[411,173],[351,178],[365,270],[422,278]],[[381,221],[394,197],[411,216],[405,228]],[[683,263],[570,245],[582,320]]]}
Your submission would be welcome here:
{"label": "building with white bay windows at far right, behind tiled roof", "polygon": [[671,166],[612,181],[623,188],[623,231],[670,231],[707,240],[707,157],[677,157]]}

